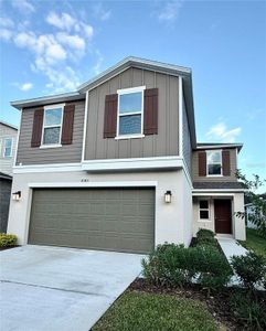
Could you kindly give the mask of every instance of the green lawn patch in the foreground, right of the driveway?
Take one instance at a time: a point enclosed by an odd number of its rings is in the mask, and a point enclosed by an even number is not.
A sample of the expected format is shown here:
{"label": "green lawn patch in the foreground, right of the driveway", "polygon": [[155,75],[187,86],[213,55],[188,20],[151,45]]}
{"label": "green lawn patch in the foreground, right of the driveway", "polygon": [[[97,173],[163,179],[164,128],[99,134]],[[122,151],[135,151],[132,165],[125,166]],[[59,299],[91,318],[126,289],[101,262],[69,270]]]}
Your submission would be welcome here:
{"label": "green lawn patch in the foreground, right of the driveway", "polygon": [[214,331],[216,322],[198,300],[170,295],[125,292],[93,331]]}

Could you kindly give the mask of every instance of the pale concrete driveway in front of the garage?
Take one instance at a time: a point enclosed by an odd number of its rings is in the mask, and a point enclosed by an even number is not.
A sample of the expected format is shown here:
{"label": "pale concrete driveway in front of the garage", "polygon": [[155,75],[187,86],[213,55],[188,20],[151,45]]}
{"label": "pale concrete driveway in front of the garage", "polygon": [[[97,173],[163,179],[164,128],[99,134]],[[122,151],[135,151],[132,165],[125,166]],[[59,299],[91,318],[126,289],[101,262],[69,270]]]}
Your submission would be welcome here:
{"label": "pale concrete driveway in front of the garage", "polygon": [[143,256],[46,246],[0,253],[4,331],[88,331],[140,274]]}

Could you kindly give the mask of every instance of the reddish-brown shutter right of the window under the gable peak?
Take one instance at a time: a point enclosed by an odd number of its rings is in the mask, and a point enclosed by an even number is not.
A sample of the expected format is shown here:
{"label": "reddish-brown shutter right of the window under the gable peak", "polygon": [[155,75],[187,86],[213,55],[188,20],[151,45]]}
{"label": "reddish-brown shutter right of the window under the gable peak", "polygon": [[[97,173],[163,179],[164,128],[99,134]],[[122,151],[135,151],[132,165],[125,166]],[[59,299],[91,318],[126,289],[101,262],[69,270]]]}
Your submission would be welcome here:
{"label": "reddish-brown shutter right of the window under the gable peak", "polygon": [[143,134],[158,135],[158,88],[145,89]]}

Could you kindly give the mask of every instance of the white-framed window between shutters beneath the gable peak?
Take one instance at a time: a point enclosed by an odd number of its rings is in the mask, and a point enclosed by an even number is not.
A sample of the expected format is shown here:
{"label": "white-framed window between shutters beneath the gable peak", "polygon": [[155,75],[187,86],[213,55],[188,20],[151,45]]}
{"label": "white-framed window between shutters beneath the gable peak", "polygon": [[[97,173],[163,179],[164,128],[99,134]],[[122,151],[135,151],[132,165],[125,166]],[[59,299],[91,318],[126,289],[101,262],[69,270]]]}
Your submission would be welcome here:
{"label": "white-framed window between shutters beneath the gable peak", "polygon": [[145,86],[119,89],[117,92],[117,138],[134,138],[142,136],[143,90]]}

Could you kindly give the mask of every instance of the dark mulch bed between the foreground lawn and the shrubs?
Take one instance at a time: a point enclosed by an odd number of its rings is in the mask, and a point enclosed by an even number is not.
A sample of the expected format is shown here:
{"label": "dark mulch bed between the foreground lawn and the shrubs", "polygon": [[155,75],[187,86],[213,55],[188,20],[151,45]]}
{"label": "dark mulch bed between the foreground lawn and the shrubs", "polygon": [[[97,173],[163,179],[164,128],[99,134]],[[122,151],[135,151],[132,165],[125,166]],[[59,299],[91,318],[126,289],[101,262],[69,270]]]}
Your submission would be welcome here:
{"label": "dark mulch bed between the foreground lawn and the shrubs", "polygon": [[[137,290],[150,293],[166,293],[173,295],[180,298],[188,298],[199,300],[208,306],[209,311],[214,319],[222,324],[222,330],[240,331],[243,330],[243,324],[240,323],[234,311],[230,307],[230,292],[235,289],[228,288],[223,293],[215,293],[208,296],[208,291],[202,289],[199,285],[193,284],[184,288],[169,288],[166,286],[156,287],[150,285],[146,279],[137,278],[129,287],[129,290]],[[240,290],[240,289],[237,289]]]}

